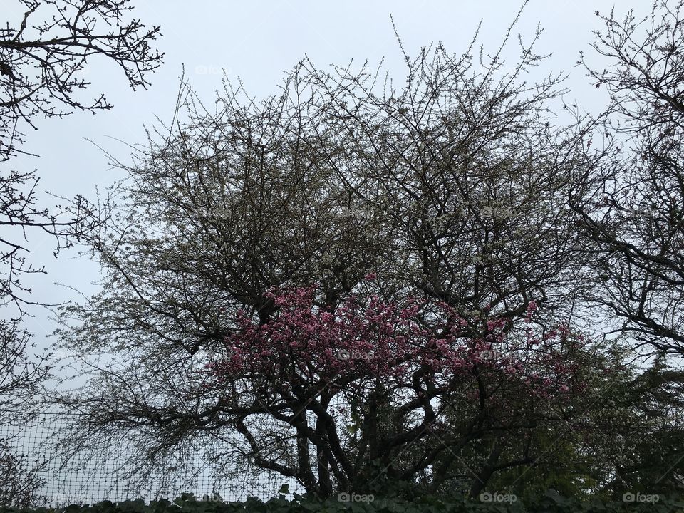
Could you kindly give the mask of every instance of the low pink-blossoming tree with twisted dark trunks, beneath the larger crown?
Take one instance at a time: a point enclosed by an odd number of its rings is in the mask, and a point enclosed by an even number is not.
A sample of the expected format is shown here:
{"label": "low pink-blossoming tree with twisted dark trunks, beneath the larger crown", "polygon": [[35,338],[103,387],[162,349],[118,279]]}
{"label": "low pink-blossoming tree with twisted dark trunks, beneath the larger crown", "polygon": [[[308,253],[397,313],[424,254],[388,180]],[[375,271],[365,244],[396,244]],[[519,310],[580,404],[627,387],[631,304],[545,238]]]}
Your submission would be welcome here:
{"label": "low pink-blossoming tree with twisted dark trunks, beneath the larger crown", "polygon": [[[238,311],[239,330],[207,363],[203,385],[244,435],[245,455],[309,492],[368,492],[388,478],[434,491],[465,473],[464,491],[477,495],[498,470],[538,463],[537,447],[506,457],[499,438],[484,458],[465,464],[457,454],[492,432],[510,443],[512,433],[525,440],[566,422],[554,416],[586,388],[579,368],[591,344],[566,326],[534,336],[534,301],[516,338],[510,321],[462,318],[442,301],[399,305],[371,294],[326,309],[316,291],[269,292],[279,314],[261,325]],[[261,430],[264,416],[281,429]]]}

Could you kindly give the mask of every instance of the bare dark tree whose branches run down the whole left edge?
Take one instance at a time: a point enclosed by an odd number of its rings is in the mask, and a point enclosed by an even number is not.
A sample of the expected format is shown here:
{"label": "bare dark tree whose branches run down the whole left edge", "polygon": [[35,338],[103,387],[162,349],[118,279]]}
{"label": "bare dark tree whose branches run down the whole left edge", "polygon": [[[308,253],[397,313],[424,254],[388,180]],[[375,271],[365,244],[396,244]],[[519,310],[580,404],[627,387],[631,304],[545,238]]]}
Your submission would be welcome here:
{"label": "bare dark tree whose branches run down the whole left edge", "polygon": [[[31,289],[22,284],[22,277],[45,271],[26,265],[28,248],[21,237],[26,241],[27,232],[50,234],[56,241],[53,254],[57,257],[61,249],[72,247],[107,217],[107,212],[97,211],[81,195],[71,200],[58,197],[66,204],[52,208],[38,207],[36,173],[11,170],[8,162],[21,154],[36,156],[22,149],[22,144],[24,126],[36,129],[37,117],[62,118],[73,110],[94,113],[111,108],[104,95],[90,103],[76,94],[90,85],[81,75],[90,58],[110,58],[133,88],[146,87],[145,76],[162,59],[150,48],[159,28],[142,32],[140,21],[125,22],[132,9],[128,0],[21,0],[21,4],[26,8],[24,16],[14,26],[8,21],[6,28],[0,28],[0,165],[4,166],[0,171],[0,304],[6,311],[14,308],[12,318],[0,322],[3,423],[35,413],[36,393],[51,369],[46,365],[51,355],[28,354],[33,347],[31,334],[21,327],[26,306],[54,306],[27,297]],[[37,20],[41,14],[45,21]],[[108,28],[100,31],[103,24]],[[4,442],[1,447],[4,467],[0,473],[7,494],[0,500],[24,504],[31,490],[21,487],[23,464],[9,454]],[[13,470],[19,474],[11,475]]]}

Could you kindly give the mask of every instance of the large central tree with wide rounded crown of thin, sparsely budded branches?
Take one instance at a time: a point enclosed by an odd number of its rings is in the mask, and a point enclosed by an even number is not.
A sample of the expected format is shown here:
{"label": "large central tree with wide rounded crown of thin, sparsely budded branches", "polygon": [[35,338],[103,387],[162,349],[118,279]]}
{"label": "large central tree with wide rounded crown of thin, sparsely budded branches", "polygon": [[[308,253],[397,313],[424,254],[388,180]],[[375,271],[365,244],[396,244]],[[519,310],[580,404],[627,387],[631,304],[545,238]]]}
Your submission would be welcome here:
{"label": "large central tree with wide rounded crown of thin, sparsely budded branches", "polygon": [[[210,112],[182,81],[170,126],[148,134],[133,165],[117,162],[129,175],[115,187],[125,205],[88,237],[103,290],[61,312],[60,346],[93,373],[85,387],[55,398],[88,421],[75,442],[141,428],[135,456],[153,465],[199,437],[237,431],[241,442],[224,455],[235,467],[223,467],[224,477],[257,467],[320,495],[403,482],[475,496],[529,483],[551,466],[569,493],[609,482],[615,465],[566,429],[581,423],[591,441],[608,437],[602,410],[587,401],[605,392],[606,376],[625,374],[624,358],[576,329],[591,306],[584,298],[596,289],[597,264],[578,229],[577,198],[606,181],[590,173],[582,139],[594,125],[551,124],[562,76],[536,86],[521,80],[541,60],[532,43],[505,74],[501,48],[481,53],[483,71],[474,69],[474,43],[462,56],[442,46],[415,59],[404,52],[400,90],[381,67],[326,72],[304,60],[261,103],[227,82]],[[310,302],[279,296],[314,285]],[[399,312],[414,297],[425,305],[416,331],[400,333],[417,357],[437,351],[430,344],[462,319],[446,347],[465,348],[466,371],[451,368],[448,381],[443,369],[398,351],[408,358],[404,374],[378,374],[362,359],[358,372],[356,361],[338,362],[346,382],[328,383],[335,366],[326,349],[368,352],[344,346],[352,333],[381,346],[378,321],[359,304],[348,306],[348,324],[336,324],[347,301],[364,294],[377,296],[371,314],[380,318],[373,309],[381,304]],[[539,352],[524,345],[533,301]],[[314,363],[278,345],[287,330],[306,333],[299,321],[312,316],[321,321],[301,338],[329,341],[307,353]],[[501,347],[490,347],[497,336]],[[269,344],[280,351],[269,353]],[[450,361],[446,349],[437,353],[433,360]],[[115,358],[103,365],[102,354]],[[210,361],[218,383],[207,383]],[[391,356],[383,363],[401,365]],[[541,390],[553,393],[529,392],[535,371]],[[345,398],[355,387],[356,398]],[[331,420],[333,398],[347,410]],[[629,400],[621,415],[635,408]],[[447,412],[448,403],[458,408]]]}

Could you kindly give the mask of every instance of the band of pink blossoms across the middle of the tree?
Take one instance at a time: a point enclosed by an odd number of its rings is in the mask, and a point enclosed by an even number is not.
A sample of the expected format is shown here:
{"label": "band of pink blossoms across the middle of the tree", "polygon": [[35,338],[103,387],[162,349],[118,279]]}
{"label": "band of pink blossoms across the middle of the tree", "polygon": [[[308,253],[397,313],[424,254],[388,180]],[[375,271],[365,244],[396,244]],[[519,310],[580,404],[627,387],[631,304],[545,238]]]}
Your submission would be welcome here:
{"label": "band of pink blossoms across the middle of the tree", "polygon": [[[568,340],[577,346],[583,339],[571,337],[567,326],[533,336],[529,323],[537,309],[534,301],[524,319],[527,341],[514,341],[507,337],[509,320],[478,315],[469,322],[442,301],[433,305],[435,320],[426,323],[426,316],[419,314],[428,304],[414,297],[398,305],[377,295],[363,300],[349,296],[341,306],[328,310],[315,305],[316,290],[309,286],[269,291],[279,311],[261,326],[238,310],[237,330],[224,339],[227,354],[207,364],[211,373],[219,380],[286,375],[318,383],[341,377],[410,383],[418,368],[445,382],[455,375],[472,377],[477,367],[524,383],[531,393],[544,397],[581,387],[573,379],[578,365],[564,361],[564,351]],[[474,325],[481,327],[479,336],[473,336]],[[556,343],[558,336],[564,345]]]}

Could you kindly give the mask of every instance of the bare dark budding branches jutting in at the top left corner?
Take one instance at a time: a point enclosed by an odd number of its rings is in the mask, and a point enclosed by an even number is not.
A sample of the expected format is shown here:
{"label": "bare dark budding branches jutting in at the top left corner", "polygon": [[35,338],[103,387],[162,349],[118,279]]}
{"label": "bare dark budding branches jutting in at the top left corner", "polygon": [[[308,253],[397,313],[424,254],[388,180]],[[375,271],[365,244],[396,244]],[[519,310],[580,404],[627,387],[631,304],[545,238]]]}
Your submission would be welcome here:
{"label": "bare dark budding branches jutting in at the top left corner", "polygon": [[[18,147],[24,142],[21,124],[36,130],[38,115],[62,118],[73,110],[112,108],[103,94],[92,102],[76,95],[90,86],[82,73],[88,59],[110,59],[135,89],[149,86],[145,75],[158,68],[163,57],[150,46],[160,27],[145,30],[140,20],[124,21],[133,9],[130,0],[20,2],[26,8],[23,18],[0,29],[1,160],[24,152]],[[40,14],[41,21],[31,25]]]}

